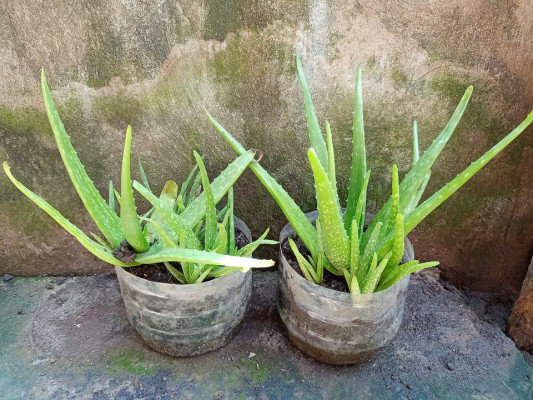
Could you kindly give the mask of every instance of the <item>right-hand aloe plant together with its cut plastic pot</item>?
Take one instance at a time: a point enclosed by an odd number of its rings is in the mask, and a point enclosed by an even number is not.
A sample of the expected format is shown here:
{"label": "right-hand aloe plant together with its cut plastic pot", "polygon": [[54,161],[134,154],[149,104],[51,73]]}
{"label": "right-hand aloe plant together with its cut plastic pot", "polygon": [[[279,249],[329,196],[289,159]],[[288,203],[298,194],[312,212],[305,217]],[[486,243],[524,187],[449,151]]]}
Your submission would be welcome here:
{"label": "right-hand aloe plant together with its cut plastic pot", "polygon": [[[400,183],[392,166],[392,193],[375,215],[365,214],[370,171],[366,164],[361,69],[357,71],[353,110],[353,149],[346,207],[337,193],[332,134],[326,139],[315,114],[300,60],[297,71],[309,133],[307,152],[317,211],[305,214],[260,165],[250,168],[274,197],[289,224],[280,235],[278,310],[291,341],[308,355],[330,364],[353,364],[387,344],[401,324],[409,275],[436,266],[420,263],[406,235],[465,184],[533,121],[533,112],[505,138],[463,172],[419,204],[436,158],[457,126],[472,93],[469,87],[449,122],[419,155],[416,122],[413,159]],[[242,145],[211,115],[211,122],[238,154]],[[344,281],[346,291],[337,288]]]}

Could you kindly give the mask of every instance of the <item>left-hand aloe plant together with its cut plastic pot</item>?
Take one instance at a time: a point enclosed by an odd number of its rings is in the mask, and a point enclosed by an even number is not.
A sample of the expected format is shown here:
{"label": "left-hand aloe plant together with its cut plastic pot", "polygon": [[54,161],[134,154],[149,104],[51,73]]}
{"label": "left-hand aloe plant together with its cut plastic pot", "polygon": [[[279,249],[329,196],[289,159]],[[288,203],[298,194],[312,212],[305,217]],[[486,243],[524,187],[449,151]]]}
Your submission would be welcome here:
{"label": "left-hand aloe plant together with its cut plastic pot", "polygon": [[[271,260],[250,258],[260,244],[277,243],[264,239],[268,230],[252,242],[246,225],[233,215],[232,186],[255,153],[244,152],[210,182],[202,158],[195,152],[197,164],[179,194],[176,183],[169,181],[157,197],[150,190],[142,165],[144,185],[131,182],[132,134],[128,127],[120,193],[110,182],[106,202],[72,147],[44,71],[41,81],[48,119],[63,163],[103,238],[85,234],[20,183],[4,162],[9,179],[87,250],[115,265],[128,319],[151,347],[171,355],[191,356],[226,344],[237,331],[250,299],[250,268],[274,264]],[[137,214],[133,188],[153,205],[148,213]],[[226,206],[217,214],[216,205],[226,193]],[[116,200],[120,215],[115,211]],[[240,249],[236,246],[235,228],[248,242]],[[142,277],[144,269],[155,268],[159,263],[176,278],[177,284]],[[135,275],[127,272],[134,269]]]}

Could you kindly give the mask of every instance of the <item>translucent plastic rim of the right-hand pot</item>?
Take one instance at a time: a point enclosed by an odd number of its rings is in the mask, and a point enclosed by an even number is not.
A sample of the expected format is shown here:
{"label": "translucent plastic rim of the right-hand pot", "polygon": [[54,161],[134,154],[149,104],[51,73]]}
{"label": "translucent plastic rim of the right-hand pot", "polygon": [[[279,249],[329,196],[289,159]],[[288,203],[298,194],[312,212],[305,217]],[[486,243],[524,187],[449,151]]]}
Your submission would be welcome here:
{"label": "translucent plastic rim of the right-hand pot", "polygon": [[[311,222],[313,222],[317,218],[318,212],[315,210],[315,211],[308,212],[305,215],[306,215],[307,219],[309,219]],[[368,215],[373,215],[373,214],[367,213],[367,218],[368,218]],[[341,292],[340,290],[330,289],[330,288],[327,288],[327,287],[324,287],[324,286],[321,286],[321,285],[317,285],[314,282],[308,281],[307,279],[305,279],[305,277],[303,277],[298,272],[296,272],[296,270],[290,265],[290,263],[287,261],[287,258],[283,254],[282,244],[288,237],[290,237],[291,233],[293,233],[293,232],[296,234],[296,232],[292,228],[290,222],[288,222],[283,227],[283,229],[280,232],[280,235],[279,235],[279,257],[280,257],[281,268],[287,269],[287,271],[291,275],[291,277],[293,277],[293,276],[296,277],[295,279],[298,281],[298,284],[304,285],[307,290],[309,290],[310,292],[315,292],[318,296],[329,298],[329,299],[335,299],[335,300],[344,300],[344,301],[352,301],[352,299],[354,299],[354,298],[366,298],[366,299],[369,299],[372,296],[380,296],[380,297],[381,296],[386,296],[388,293],[390,293],[392,291],[396,291],[396,290],[398,290],[398,288],[401,288],[403,286],[407,286],[408,283],[409,283],[409,278],[410,278],[411,274],[405,276],[400,281],[398,281],[397,283],[395,283],[394,285],[388,287],[385,290],[380,290],[379,292],[372,292],[372,293]],[[298,236],[298,235],[296,235],[296,236]],[[405,237],[405,242],[406,242],[406,245],[407,245],[406,247],[408,247],[408,248],[404,250],[404,257],[407,256],[408,260],[411,261],[411,260],[414,259],[413,245],[412,245],[411,241],[409,240],[409,238],[407,236]]]}

